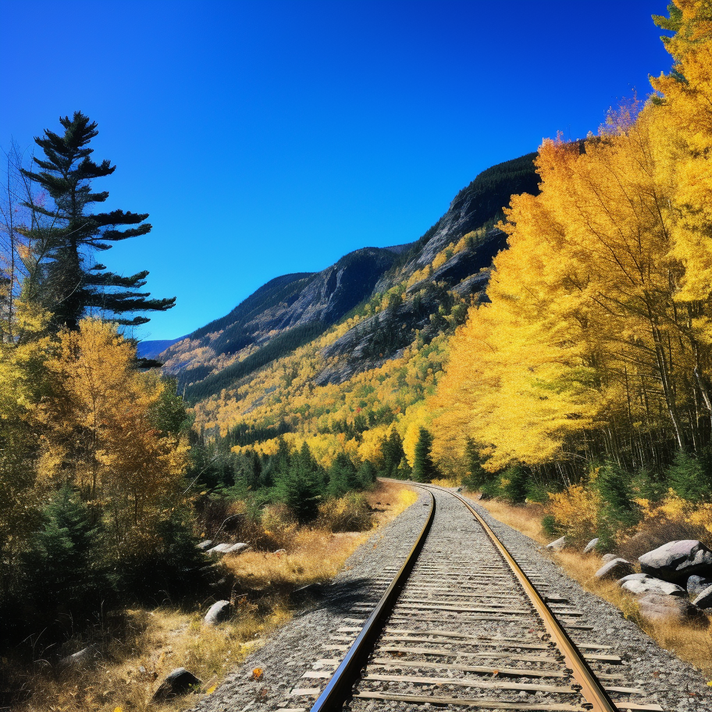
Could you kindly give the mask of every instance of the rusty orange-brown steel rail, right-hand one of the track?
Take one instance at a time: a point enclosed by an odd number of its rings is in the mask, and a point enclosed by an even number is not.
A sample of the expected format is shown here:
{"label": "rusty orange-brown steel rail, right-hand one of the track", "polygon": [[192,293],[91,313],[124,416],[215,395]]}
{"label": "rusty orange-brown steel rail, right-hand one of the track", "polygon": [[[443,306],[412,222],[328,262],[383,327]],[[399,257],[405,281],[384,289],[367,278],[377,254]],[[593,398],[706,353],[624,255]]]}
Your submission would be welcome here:
{"label": "rusty orange-brown steel rail, right-hand one of the track", "polygon": [[446,492],[459,499],[459,501],[461,501],[464,506],[471,511],[478,523],[480,523],[482,528],[486,531],[488,537],[492,540],[492,543],[496,546],[499,553],[501,553],[511,570],[514,572],[514,575],[518,578],[520,584],[525,590],[526,595],[529,597],[530,602],[540,615],[544,627],[547,629],[553,641],[557,644],[559,650],[564,656],[567,667],[573,671],[573,678],[577,684],[581,686],[581,694],[586,700],[584,707],[592,712],[618,712],[618,707],[614,701],[612,701],[609,694],[604,690],[602,684],[580,653],[576,644],[572,641],[572,639],[570,639],[567,632],[556,619],[552,610],[546,604],[545,600],[543,600],[543,598],[539,595],[539,592],[536,590],[533,583],[530,582],[528,576],[525,572],[523,572],[520,565],[518,565],[518,563],[514,560],[514,557],[507,550],[506,546],[499,540],[498,536],[493,532],[478,511],[471,506],[466,498],[456,492],[451,492],[437,485],[429,485],[427,487],[437,489],[441,492]]}

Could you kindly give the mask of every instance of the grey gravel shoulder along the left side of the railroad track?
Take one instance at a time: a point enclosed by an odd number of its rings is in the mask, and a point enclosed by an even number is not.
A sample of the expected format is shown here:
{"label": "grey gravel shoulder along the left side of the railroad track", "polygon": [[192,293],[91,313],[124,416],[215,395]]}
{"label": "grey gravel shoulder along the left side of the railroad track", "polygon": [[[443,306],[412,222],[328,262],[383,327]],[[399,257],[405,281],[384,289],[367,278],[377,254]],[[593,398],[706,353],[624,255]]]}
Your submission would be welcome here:
{"label": "grey gravel shoulder along the left side of the railroad track", "polygon": [[[346,561],[333,585],[319,600],[295,615],[273,639],[251,653],[223,684],[202,698],[196,712],[264,712],[280,707],[302,706],[303,700],[290,698],[294,687],[323,686],[323,681],[301,679],[312,670],[315,661],[339,656],[325,651],[322,644],[338,627],[353,625],[345,619],[362,620],[352,612],[359,602],[377,602],[384,591],[376,577],[383,570],[400,567],[408,555],[429,511],[429,497],[418,501],[397,518],[377,530]],[[261,668],[263,677],[251,679],[253,669]]]}

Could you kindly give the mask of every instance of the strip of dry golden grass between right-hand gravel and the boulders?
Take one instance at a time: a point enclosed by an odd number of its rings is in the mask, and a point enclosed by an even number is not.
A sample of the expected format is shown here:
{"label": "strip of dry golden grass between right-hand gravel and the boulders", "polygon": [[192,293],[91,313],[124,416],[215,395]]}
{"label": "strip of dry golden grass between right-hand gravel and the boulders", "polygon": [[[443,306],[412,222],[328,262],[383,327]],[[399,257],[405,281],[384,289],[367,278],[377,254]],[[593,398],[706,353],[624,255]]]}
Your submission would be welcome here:
{"label": "strip of dry golden grass between right-hand gravel and the boulders", "polygon": [[[471,495],[470,497],[473,498]],[[540,544],[546,544],[552,539],[541,528],[541,519],[545,514],[543,505],[514,506],[496,500],[478,501],[478,504],[486,508],[495,519]],[[662,543],[662,540],[658,543],[661,536],[669,541],[669,538],[665,538],[667,534],[669,532],[649,532],[650,541],[642,546],[642,550],[649,551]],[[641,546],[641,543],[636,540],[636,545]],[[712,677],[712,626],[705,630],[681,624],[674,619],[649,621],[641,616],[634,596],[624,592],[614,581],[602,581],[595,577],[595,573],[603,565],[600,555],[582,554],[573,549],[547,551],[567,575],[579,582],[585,590],[617,607],[624,617],[638,624],[659,646],[698,667],[708,678]]]}

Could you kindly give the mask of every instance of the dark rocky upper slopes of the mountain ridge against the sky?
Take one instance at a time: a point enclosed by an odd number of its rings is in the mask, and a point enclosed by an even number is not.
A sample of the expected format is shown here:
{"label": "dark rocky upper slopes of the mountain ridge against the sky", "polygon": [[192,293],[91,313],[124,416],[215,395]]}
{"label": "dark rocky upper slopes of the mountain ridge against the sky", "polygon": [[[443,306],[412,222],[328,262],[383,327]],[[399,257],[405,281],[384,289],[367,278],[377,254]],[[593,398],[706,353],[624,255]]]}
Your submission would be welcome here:
{"label": "dark rocky upper slopes of the mountain ridge against the sky", "polygon": [[[439,317],[444,309],[481,298],[492,258],[506,248],[506,236],[493,224],[512,194],[538,193],[535,156],[478,174],[417,241],[362,248],[323,271],[277,277],[159,354],[151,345],[158,342],[146,344],[193,402],[245,384],[258,370],[317,339],[325,345],[313,376],[316,385],[338,384],[378,367],[416,337],[437,335],[444,328]],[[369,312],[369,304],[377,313]],[[345,328],[355,315],[357,323]]]}

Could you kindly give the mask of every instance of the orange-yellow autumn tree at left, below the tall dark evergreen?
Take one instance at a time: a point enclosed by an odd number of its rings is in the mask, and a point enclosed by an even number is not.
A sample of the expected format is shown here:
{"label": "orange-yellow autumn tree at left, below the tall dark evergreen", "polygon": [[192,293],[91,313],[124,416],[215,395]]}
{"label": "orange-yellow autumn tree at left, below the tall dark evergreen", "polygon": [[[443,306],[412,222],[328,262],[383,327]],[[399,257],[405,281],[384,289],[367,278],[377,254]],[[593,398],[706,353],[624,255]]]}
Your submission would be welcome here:
{"label": "orange-yellow autumn tree at left, below the tall dark evergreen", "polygon": [[51,392],[36,409],[41,476],[70,481],[103,511],[118,555],[150,547],[179,501],[189,450],[155,425],[164,383],[138,372],[135,346],[93,318],[59,334],[47,369]]}

